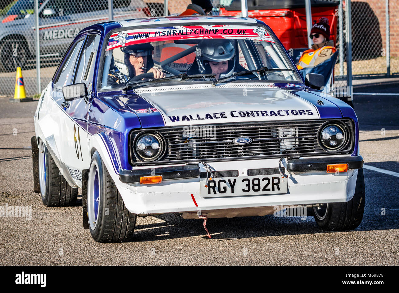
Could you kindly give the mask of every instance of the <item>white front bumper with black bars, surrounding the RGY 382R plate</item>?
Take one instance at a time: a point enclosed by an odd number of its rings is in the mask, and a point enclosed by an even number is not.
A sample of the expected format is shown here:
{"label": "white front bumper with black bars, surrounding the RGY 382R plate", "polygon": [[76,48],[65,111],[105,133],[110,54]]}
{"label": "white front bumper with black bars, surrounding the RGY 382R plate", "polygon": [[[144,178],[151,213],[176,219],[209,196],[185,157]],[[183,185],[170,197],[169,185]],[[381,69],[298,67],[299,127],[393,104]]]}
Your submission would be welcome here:
{"label": "white front bumper with black bars, surrounding the RGY 382R plate", "polygon": [[[201,177],[204,177],[202,176],[204,172],[206,173],[205,166],[202,163],[197,165],[153,166],[153,168],[146,166],[146,169],[136,167],[132,171],[122,171],[120,178],[123,181],[120,180],[115,183],[122,195],[126,208],[135,214],[163,214],[169,212],[196,212],[197,210],[346,202],[352,199],[354,195],[358,174],[357,169],[361,167],[363,162],[360,156],[355,158],[353,159],[351,156],[313,157],[292,159],[288,160],[288,162],[283,159],[282,167],[286,169],[285,173],[288,175],[288,193],[284,194],[201,197],[200,187],[203,181],[201,182],[200,180]],[[320,161],[319,159],[322,160]],[[309,170],[306,164],[304,168],[300,169],[302,164],[299,163],[301,163],[301,160],[311,160],[304,162],[308,163],[307,165],[316,163],[316,166],[318,166],[318,163],[336,163],[336,160],[339,160],[339,163],[348,163],[349,169],[347,172],[338,174],[327,173],[325,168],[320,171]],[[292,163],[291,165],[290,162]],[[357,163],[352,165],[352,162]],[[275,170],[279,165],[279,159],[223,161],[208,163],[208,165],[213,172],[235,170],[238,173],[237,178],[239,178],[248,176],[250,170],[265,168]],[[292,171],[291,168],[296,169]],[[151,171],[153,171],[152,174]],[[168,179],[162,180],[159,184],[140,185],[136,183],[140,181],[140,176],[160,175],[162,171],[164,171]],[[186,177],[183,178],[182,174],[185,174],[184,176]],[[274,174],[278,174],[278,172],[274,172]]]}

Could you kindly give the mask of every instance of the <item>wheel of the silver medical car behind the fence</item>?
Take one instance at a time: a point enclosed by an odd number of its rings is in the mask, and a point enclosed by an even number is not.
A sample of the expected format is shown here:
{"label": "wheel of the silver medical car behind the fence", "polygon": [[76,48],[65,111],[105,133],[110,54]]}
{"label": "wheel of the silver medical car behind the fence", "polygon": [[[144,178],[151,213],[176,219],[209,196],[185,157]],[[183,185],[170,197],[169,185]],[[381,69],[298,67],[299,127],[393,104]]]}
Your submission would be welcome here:
{"label": "wheel of the silver medical car behind the fence", "polygon": [[9,37],[0,42],[0,72],[24,69],[29,57],[28,44],[20,37]]}

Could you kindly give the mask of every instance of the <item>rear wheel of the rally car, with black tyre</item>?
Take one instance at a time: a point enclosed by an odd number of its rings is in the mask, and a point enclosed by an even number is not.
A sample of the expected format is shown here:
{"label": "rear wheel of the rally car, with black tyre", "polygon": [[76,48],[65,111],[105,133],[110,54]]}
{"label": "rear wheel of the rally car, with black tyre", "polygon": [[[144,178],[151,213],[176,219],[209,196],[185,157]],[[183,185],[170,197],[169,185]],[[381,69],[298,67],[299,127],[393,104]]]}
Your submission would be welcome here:
{"label": "rear wheel of the rally car, with black tyre", "polygon": [[67,183],[41,140],[38,163],[40,194],[43,204],[45,206],[75,205],[78,189]]}

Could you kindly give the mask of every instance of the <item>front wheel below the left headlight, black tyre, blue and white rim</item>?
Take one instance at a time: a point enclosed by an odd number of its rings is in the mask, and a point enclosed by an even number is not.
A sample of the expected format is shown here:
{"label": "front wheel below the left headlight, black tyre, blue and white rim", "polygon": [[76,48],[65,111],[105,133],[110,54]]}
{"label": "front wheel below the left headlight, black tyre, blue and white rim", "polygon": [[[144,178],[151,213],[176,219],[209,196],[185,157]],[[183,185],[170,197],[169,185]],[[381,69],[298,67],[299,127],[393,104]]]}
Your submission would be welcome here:
{"label": "front wheel below the left headlight, black tyre, blue and white rim", "polygon": [[133,239],[136,214],[129,212],[99,153],[91,158],[87,179],[87,217],[97,242],[126,242]]}

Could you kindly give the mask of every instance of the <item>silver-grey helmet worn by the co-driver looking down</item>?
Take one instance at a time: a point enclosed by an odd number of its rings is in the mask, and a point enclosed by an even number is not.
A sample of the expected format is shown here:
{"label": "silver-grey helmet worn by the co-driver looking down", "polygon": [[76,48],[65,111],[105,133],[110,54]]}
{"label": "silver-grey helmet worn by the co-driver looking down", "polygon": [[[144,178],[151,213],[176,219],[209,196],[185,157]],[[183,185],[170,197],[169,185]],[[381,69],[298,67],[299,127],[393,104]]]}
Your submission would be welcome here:
{"label": "silver-grey helmet worn by the co-driver looking down", "polygon": [[219,78],[233,74],[235,67],[235,52],[233,44],[227,39],[202,39],[197,45],[197,63],[200,73],[211,73],[208,61],[229,61],[227,73]]}

